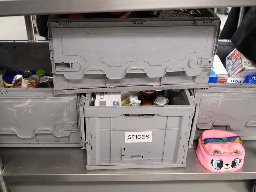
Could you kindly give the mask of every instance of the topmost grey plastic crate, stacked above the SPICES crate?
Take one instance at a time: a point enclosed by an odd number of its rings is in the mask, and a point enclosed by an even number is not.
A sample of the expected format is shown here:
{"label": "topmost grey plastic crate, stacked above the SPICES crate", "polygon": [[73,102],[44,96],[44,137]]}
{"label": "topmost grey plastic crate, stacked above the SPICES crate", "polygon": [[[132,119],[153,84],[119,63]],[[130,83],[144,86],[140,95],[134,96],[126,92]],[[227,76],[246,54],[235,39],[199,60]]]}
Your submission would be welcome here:
{"label": "topmost grey plastic crate, stacked above the SPICES crate", "polygon": [[199,11],[194,18],[52,16],[54,93],[208,87],[220,19]]}

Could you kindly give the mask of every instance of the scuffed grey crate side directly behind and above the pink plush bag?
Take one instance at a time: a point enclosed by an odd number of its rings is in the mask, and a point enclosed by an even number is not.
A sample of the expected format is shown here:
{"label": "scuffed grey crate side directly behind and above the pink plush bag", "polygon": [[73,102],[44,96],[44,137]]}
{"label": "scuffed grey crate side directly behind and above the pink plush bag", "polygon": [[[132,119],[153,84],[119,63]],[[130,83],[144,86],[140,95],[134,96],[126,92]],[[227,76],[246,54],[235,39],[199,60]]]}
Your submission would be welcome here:
{"label": "scuffed grey crate side directly behind and above the pink plush bag", "polygon": [[206,129],[223,129],[256,140],[256,86],[249,84],[210,84],[195,89],[199,104],[196,138]]}

